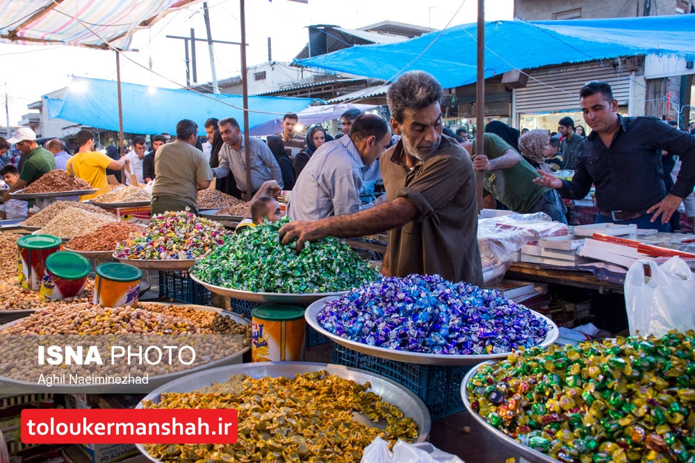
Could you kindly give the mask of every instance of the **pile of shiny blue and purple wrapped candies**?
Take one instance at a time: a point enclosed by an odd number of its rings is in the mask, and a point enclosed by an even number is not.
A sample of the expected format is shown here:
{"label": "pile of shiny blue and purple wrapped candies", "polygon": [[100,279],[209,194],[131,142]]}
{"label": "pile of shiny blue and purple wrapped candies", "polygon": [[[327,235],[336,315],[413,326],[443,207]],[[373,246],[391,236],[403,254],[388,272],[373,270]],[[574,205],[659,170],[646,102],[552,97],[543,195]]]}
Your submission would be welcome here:
{"label": "pile of shiny blue and purple wrapped candies", "polygon": [[537,346],[550,328],[496,290],[439,275],[384,277],[327,302],[317,321],[329,332],[368,346],[443,355]]}

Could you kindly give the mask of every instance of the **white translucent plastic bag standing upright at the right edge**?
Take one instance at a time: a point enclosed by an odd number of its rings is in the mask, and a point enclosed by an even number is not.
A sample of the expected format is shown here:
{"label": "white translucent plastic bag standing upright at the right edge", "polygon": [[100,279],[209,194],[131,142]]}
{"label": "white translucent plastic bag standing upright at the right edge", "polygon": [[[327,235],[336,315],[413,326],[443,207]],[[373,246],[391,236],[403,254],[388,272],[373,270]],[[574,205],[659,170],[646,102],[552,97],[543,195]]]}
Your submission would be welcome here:
{"label": "white translucent plastic bag standing upright at the right edge", "polygon": [[[651,277],[644,275],[644,266]],[[625,307],[632,336],[663,336],[695,328],[695,275],[680,257],[661,266],[640,259],[625,276]]]}

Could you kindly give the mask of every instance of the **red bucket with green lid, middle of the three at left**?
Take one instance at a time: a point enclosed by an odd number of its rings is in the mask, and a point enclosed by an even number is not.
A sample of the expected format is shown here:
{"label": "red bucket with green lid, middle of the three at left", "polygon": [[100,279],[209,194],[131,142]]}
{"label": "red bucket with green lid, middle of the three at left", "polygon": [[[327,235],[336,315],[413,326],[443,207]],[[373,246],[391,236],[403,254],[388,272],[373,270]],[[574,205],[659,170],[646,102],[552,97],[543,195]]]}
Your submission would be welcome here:
{"label": "red bucket with green lid, middle of the three at left", "polygon": [[40,295],[48,299],[65,299],[82,294],[91,265],[76,252],[54,252],[46,258]]}

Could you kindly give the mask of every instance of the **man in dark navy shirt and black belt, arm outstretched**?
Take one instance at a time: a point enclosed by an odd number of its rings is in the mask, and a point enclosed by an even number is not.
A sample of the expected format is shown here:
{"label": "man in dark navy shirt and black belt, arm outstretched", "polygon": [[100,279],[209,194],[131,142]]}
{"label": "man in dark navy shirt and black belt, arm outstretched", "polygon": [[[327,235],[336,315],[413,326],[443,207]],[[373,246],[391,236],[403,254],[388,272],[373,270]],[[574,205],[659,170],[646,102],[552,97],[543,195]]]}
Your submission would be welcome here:
{"label": "man in dark navy shirt and black belt, arm outstretched", "polygon": [[[671,215],[695,186],[695,138],[656,117],[619,115],[608,83],[589,82],[579,95],[584,122],[592,132],[577,147],[572,181],[539,170],[534,183],[557,188],[573,200],[584,198],[594,184],[596,223],[633,223],[668,232]],[[678,180],[668,194],[662,149],[682,159]]]}

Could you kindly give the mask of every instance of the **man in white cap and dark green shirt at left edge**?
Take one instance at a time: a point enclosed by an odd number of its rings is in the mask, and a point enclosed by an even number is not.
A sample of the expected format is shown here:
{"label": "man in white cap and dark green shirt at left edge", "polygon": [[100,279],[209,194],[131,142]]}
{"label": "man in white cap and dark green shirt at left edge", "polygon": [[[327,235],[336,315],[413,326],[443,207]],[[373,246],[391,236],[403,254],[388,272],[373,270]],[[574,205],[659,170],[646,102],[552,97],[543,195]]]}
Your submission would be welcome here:
{"label": "man in white cap and dark green shirt at left edge", "polygon": [[26,156],[26,161],[24,161],[22,170],[19,171],[19,179],[2,195],[0,203],[11,200],[10,193],[21,190],[31,182],[38,180],[43,174],[56,168],[53,154],[36,143],[36,133],[28,127],[19,127],[15,135],[7,141],[17,145],[17,149]]}

